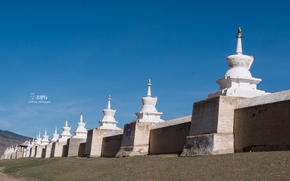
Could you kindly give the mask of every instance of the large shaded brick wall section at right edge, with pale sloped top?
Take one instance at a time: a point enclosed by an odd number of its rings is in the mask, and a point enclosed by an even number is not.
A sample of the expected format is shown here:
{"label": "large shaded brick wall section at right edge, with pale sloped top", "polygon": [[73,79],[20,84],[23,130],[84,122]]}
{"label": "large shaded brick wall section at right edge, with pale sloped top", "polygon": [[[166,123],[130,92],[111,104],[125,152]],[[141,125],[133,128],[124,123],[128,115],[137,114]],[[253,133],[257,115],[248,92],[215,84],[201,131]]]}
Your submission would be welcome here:
{"label": "large shaded brick wall section at right edge, with pale sloped top", "polygon": [[243,100],[235,109],[235,152],[290,150],[290,90]]}

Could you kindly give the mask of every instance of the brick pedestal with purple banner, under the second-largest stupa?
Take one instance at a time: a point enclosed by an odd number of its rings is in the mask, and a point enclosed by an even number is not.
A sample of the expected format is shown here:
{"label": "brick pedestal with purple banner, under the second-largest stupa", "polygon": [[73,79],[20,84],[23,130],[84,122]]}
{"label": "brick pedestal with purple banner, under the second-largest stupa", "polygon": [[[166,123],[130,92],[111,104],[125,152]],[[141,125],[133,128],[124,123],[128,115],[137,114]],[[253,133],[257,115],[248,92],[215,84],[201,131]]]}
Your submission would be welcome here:
{"label": "brick pedestal with purple banner, under the second-largest stupa", "polygon": [[156,123],[133,122],[131,136],[128,135],[127,125],[124,125],[122,145],[116,157],[147,155],[149,149],[150,129]]}

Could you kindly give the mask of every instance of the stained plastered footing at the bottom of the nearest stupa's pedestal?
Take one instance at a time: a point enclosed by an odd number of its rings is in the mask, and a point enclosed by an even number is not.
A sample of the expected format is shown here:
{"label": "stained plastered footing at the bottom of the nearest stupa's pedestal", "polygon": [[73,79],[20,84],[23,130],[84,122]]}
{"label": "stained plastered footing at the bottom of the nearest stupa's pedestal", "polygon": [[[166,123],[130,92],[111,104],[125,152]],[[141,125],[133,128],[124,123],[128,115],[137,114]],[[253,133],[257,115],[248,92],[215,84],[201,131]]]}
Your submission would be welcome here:
{"label": "stained plastered footing at the bottom of the nearest stupa's pedestal", "polygon": [[181,156],[217,155],[234,153],[233,134],[206,134],[186,137]]}

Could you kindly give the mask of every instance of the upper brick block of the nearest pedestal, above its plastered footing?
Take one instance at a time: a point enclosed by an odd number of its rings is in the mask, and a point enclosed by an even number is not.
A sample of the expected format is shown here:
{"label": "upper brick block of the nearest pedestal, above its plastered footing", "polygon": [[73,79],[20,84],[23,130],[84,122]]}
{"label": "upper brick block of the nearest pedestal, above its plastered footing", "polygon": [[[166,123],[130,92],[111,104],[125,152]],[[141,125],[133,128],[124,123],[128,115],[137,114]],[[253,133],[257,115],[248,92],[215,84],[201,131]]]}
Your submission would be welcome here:
{"label": "upper brick block of the nearest pedestal, above its plastered footing", "polygon": [[244,98],[217,96],[193,104],[190,136],[233,133],[234,109]]}

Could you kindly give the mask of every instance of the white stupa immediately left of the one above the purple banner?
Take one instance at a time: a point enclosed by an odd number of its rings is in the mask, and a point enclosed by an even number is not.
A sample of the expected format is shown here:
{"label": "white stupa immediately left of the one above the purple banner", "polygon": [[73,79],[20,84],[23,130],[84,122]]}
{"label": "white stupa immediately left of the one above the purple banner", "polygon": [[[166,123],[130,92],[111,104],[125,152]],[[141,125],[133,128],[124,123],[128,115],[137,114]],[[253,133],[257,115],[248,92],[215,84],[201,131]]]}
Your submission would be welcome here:
{"label": "white stupa immediately left of the one above the purple banner", "polygon": [[113,129],[113,130],[120,130],[121,128],[116,127],[117,125],[117,121],[114,118],[114,115],[116,113],[116,110],[111,110],[111,96],[109,95],[108,98],[108,109],[104,109],[103,113],[104,113],[104,117],[102,120],[99,121],[99,123],[101,124],[100,127],[97,127],[96,129]]}

